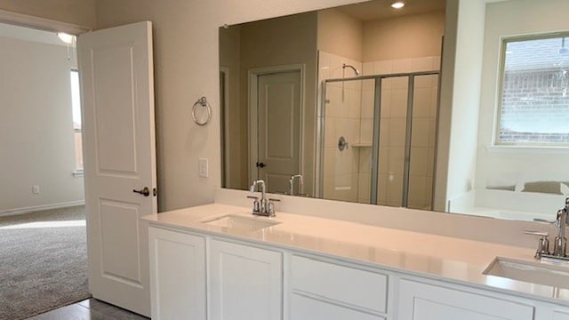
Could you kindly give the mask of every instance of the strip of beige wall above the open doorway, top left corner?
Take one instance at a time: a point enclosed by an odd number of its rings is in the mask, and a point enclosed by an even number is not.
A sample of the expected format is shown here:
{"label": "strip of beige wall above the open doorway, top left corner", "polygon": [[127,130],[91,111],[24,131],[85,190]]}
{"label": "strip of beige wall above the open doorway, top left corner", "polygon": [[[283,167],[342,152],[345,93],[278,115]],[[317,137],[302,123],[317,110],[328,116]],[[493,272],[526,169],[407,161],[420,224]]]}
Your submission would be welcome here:
{"label": "strip of beige wall above the open doorway, top left corner", "polygon": [[95,28],[95,0],[0,0],[0,10]]}

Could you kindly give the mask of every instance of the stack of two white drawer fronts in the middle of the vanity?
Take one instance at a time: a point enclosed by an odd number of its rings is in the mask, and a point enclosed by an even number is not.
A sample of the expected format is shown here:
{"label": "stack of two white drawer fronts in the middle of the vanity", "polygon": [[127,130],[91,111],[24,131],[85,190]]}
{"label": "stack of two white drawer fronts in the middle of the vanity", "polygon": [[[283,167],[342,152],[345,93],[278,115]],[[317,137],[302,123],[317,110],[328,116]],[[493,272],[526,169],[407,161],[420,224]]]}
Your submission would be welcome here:
{"label": "stack of two white drawer fronts in the middle of the vanity", "polygon": [[388,276],[293,255],[291,319],[385,319]]}

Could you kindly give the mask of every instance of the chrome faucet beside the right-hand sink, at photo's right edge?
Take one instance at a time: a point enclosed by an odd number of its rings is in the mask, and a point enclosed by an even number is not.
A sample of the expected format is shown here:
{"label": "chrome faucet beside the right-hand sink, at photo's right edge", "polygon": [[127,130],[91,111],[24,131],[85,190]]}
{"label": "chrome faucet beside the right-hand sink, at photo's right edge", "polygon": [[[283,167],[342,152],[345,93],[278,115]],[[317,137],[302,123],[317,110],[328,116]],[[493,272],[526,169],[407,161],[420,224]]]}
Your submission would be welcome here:
{"label": "chrome faucet beside the right-hand sink, at photo's right edge", "polygon": [[565,198],[565,207],[557,211],[557,218],[553,222],[557,227],[557,236],[555,237],[555,242],[553,244],[553,252],[549,252],[549,235],[546,232],[525,231],[525,234],[528,235],[541,236],[537,252],[535,252],[535,259],[556,261],[565,260],[565,262],[569,261],[569,257],[567,257],[566,252],[567,238],[565,237],[565,228],[567,228],[567,223],[569,223],[568,213],[569,197]]}

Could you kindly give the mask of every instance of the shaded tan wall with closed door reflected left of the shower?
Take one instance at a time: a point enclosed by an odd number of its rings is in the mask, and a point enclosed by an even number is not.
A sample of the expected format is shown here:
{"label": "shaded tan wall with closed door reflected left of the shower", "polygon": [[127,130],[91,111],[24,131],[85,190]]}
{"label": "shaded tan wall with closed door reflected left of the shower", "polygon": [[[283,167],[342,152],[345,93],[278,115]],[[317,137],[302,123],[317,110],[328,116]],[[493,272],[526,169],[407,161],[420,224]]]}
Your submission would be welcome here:
{"label": "shaded tan wall with closed door reflected left of the shower", "polygon": [[220,28],[220,66],[228,70],[223,187],[262,179],[268,192],[284,193],[302,174],[302,192],[315,195],[316,32],[317,12]]}

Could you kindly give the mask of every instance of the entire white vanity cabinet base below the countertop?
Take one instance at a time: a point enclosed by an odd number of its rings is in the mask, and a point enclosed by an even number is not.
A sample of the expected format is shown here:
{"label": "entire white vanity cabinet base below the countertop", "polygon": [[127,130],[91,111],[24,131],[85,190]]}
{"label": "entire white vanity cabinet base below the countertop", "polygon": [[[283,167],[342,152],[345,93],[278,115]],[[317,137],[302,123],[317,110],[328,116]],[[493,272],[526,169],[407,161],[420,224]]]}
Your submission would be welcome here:
{"label": "entire white vanity cabinet base below the countertop", "polygon": [[149,228],[153,319],[569,320],[569,308],[402,269]]}

